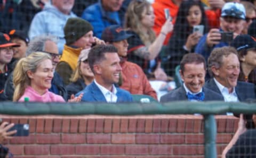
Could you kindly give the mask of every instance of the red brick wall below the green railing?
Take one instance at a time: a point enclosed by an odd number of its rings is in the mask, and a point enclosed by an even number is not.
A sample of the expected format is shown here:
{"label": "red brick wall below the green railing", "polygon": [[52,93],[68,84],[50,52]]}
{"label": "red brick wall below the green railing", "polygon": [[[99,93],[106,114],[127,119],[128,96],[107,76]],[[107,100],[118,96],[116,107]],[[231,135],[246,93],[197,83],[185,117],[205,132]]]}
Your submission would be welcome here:
{"label": "red brick wall below the green railing", "polygon": [[[7,116],[28,123],[30,135],[6,141],[15,157],[204,157],[201,116]],[[238,119],[216,116],[217,151],[233,136]]]}

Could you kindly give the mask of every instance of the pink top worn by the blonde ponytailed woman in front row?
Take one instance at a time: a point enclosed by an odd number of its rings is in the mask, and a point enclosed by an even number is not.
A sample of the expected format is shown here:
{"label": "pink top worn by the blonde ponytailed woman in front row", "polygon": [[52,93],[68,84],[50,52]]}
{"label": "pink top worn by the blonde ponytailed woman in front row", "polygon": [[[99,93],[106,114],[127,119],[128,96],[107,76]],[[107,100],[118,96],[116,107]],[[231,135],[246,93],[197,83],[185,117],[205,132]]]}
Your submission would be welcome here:
{"label": "pink top worn by the blonde ponytailed woman in front row", "polygon": [[65,102],[62,96],[45,90],[43,95],[39,95],[31,86],[25,89],[25,93],[18,102],[24,102],[24,98],[29,98],[29,102]]}

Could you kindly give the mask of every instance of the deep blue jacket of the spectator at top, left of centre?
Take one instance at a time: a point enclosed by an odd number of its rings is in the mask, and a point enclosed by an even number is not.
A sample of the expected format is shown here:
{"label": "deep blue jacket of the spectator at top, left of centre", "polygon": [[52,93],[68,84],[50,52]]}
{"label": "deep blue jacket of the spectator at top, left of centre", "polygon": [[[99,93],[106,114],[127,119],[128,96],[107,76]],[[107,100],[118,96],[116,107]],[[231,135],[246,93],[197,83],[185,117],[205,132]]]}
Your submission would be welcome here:
{"label": "deep blue jacket of the spectator at top, left of centre", "polygon": [[82,18],[90,22],[93,26],[94,36],[101,38],[102,31],[109,25],[121,25],[118,12],[107,12],[102,8],[101,2],[87,7]]}

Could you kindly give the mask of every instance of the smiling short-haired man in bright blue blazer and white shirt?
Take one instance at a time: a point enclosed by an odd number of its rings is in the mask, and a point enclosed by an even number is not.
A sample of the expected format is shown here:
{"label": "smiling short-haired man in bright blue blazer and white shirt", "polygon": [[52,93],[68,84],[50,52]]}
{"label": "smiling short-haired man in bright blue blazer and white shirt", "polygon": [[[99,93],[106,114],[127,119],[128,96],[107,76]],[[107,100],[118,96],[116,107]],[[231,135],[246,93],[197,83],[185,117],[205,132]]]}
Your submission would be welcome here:
{"label": "smiling short-haired man in bright blue blazer and white shirt", "polygon": [[88,55],[89,66],[94,74],[94,81],[85,89],[82,101],[86,102],[131,102],[129,92],[115,87],[119,81],[122,67],[113,45],[98,45],[93,47]]}

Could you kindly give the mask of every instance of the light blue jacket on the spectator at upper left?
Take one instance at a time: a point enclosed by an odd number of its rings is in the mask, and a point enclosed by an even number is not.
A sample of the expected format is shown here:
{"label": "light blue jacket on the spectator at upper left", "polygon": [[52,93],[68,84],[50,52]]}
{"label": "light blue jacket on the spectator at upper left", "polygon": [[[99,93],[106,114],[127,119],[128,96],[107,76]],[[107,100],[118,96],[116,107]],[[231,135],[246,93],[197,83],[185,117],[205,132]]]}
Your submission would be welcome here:
{"label": "light blue jacket on the spectator at upper left", "polygon": [[43,11],[37,13],[30,24],[29,39],[42,34],[52,34],[59,38],[58,49],[59,54],[62,54],[66,43],[63,29],[69,17],[76,17],[76,15],[73,12],[66,15],[61,13],[55,6],[45,5]]}

